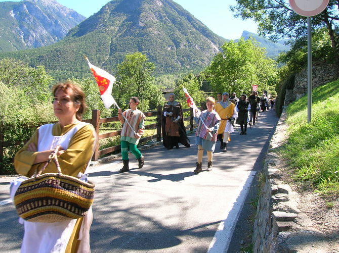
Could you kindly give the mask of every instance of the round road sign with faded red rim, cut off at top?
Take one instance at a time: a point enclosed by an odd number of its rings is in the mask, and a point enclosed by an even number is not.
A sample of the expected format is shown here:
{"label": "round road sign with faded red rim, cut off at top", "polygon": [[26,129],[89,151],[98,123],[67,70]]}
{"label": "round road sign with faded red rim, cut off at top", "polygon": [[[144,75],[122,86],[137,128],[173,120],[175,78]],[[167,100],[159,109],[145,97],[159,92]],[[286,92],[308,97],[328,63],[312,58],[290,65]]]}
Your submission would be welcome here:
{"label": "round road sign with faded red rim, cut off at top", "polygon": [[329,0],[289,0],[294,12],[301,16],[312,17],[325,10]]}

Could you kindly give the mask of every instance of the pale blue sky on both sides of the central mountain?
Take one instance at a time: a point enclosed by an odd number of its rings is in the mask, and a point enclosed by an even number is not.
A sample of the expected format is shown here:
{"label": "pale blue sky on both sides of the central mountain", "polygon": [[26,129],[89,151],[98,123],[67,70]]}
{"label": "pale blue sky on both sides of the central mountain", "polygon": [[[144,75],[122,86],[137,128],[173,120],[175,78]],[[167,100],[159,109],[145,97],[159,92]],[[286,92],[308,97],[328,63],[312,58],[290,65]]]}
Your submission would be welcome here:
{"label": "pale blue sky on both sides of the central mountain", "polygon": [[[5,2],[5,0],[0,0],[0,2]],[[85,17],[90,17],[109,0],[57,0],[57,2]],[[229,7],[236,4],[235,0],[174,0],[174,2],[181,5],[214,33],[226,39],[240,38],[243,30],[257,33],[255,22],[233,18],[234,14]]]}

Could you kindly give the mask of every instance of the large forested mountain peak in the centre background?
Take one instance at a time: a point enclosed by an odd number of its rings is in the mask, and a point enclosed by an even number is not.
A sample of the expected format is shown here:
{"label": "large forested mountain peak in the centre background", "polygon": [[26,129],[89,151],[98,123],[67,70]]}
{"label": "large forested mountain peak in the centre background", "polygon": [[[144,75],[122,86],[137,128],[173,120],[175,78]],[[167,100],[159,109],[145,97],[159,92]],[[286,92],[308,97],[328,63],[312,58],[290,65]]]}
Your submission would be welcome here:
{"label": "large forested mountain peak in the centre background", "polygon": [[158,73],[201,70],[225,41],[172,0],[113,0],[71,29],[65,41],[93,37],[109,43],[99,64],[115,66],[125,54],[141,52]]}

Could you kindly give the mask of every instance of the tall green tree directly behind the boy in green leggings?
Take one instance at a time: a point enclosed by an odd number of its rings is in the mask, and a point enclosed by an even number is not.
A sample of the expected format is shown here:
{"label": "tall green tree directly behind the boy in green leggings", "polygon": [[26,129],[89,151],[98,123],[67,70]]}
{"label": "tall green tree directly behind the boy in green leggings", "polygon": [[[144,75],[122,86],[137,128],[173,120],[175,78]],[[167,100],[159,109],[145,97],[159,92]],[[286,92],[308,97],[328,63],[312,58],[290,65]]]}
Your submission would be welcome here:
{"label": "tall green tree directly behind the boy in green leggings", "polygon": [[128,108],[127,102],[131,96],[139,97],[141,100],[139,109],[143,111],[154,109],[150,106],[160,103],[161,88],[153,82],[154,69],[154,64],[148,61],[146,55],[134,53],[125,56],[123,62],[117,67],[116,76],[121,84],[113,86],[113,94],[117,98],[119,107]]}

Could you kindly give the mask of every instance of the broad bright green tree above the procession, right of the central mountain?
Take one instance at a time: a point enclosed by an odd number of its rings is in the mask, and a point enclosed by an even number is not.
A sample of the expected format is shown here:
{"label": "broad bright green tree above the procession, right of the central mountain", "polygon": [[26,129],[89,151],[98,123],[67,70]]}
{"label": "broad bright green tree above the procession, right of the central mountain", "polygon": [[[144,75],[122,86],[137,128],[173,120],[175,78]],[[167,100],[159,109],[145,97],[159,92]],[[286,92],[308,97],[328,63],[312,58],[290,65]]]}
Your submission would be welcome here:
{"label": "broad bright green tree above the procession, right of the central mountain", "polygon": [[206,68],[213,92],[236,92],[248,94],[252,84],[258,90],[274,89],[277,80],[277,64],[266,56],[265,48],[254,39],[238,42],[233,40],[222,45],[222,52],[217,54]]}

